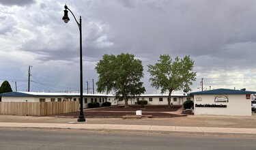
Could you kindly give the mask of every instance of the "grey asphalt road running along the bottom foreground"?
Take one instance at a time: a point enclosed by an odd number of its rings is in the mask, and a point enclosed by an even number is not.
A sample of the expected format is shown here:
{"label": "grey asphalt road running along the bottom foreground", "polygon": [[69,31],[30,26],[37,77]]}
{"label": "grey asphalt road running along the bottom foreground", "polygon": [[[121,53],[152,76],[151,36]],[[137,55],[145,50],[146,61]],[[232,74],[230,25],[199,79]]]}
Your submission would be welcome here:
{"label": "grey asphalt road running along the bottom foreground", "polygon": [[83,130],[0,129],[0,149],[255,149],[256,140]]}

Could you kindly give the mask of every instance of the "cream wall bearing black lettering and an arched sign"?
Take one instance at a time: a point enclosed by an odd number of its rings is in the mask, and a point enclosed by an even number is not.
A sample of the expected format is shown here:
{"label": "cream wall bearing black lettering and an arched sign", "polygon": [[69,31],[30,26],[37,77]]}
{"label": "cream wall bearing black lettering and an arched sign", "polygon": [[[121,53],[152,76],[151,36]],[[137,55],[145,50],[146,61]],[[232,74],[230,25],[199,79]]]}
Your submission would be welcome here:
{"label": "cream wall bearing black lettering and an arched sign", "polygon": [[[221,95],[195,95],[194,114],[195,115],[234,115],[251,116],[251,100],[246,100],[246,95],[225,95],[229,102],[214,102],[214,98]],[[201,98],[198,101],[197,98]],[[223,104],[227,108],[221,107],[195,107],[195,104]]]}

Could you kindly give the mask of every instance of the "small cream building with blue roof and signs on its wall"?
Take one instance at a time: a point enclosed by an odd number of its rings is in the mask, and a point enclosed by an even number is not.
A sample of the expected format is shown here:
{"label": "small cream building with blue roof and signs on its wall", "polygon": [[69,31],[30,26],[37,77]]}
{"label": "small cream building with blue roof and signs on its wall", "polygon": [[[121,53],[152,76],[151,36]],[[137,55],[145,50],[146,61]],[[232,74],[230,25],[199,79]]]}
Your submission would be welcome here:
{"label": "small cream building with blue roof and signs on its wall", "polygon": [[251,96],[255,91],[214,89],[190,93],[195,115],[251,116]]}

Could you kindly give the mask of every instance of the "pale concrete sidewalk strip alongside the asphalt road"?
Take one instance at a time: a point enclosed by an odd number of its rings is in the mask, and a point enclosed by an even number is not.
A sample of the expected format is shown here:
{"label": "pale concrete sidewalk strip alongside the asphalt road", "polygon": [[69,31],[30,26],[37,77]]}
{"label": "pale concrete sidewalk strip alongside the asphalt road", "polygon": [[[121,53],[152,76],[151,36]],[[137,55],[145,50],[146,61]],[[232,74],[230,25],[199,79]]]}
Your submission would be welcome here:
{"label": "pale concrete sidewalk strip alongside the asphalt road", "polygon": [[25,127],[44,129],[79,129],[88,131],[122,131],[122,132],[151,132],[173,133],[186,132],[197,134],[256,134],[256,128],[232,127],[184,127],[164,125],[124,125],[124,124],[87,124],[85,123],[13,123],[1,122],[0,127]]}

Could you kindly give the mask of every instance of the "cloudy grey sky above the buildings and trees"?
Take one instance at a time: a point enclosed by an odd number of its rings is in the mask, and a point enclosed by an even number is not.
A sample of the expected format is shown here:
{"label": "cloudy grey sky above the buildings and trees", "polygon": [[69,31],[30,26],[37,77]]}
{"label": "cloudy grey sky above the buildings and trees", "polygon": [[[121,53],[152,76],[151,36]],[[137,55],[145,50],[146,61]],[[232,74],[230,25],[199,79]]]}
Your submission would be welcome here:
{"label": "cloudy grey sky above the buildings and trees", "polygon": [[[256,91],[255,0],[0,0],[0,84],[13,91],[79,92],[79,27],[82,18],[83,89],[96,90],[94,69],[104,54],[130,53],[147,65],[160,55],[195,61],[193,91]],[[96,91],[97,93],[97,91]],[[175,91],[182,93],[182,91]]]}

